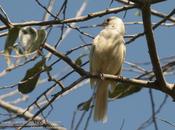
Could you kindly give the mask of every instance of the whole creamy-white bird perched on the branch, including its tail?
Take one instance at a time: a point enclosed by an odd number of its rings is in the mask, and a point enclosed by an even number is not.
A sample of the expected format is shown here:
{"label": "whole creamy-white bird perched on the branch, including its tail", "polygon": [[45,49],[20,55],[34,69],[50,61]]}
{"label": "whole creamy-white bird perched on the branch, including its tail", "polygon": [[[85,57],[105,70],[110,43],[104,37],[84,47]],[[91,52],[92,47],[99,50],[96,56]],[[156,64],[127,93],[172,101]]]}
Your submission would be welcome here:
{"label": "whole creamy-white bird perched on the branch, including its tail", "polygon": [[[110,17],[102,24],[103,30],[93,40],[90,53],[90,72],[92,74],[120,75],[125,58],[125,26],[118,17]],[[95,121],[107,121],[108,91],[116,87],[116,82],[103,78],[90,80],[95,89]]]}

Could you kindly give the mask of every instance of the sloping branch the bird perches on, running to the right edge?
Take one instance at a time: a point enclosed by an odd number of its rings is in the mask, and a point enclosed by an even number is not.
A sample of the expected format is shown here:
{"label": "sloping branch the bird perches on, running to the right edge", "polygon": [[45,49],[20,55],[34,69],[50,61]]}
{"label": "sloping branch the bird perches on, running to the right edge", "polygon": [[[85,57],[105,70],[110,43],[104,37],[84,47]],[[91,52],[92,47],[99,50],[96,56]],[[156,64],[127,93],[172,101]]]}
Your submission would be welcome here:
{"label": "sloping branch the bird perches on, running to the right edge", "polygon": [[[86,78],[101,78],[99,75],[91,75],[89,72],[87,72],[84,69],[82,69],[81,67],[77,66],[69,57],[67,57],[65,54],[62,54],[62,53],[58,52],[51,45],[45,44],[44,48],[46,50],[48,50],[49,52],[51,52],[56,57],[61,58],[62,60],[64,60],[68,65],[70,65],[81,76],[85,76]],[[159,75],[159,73],[158,73],[158,75]],[[161,75],[162,75],[162,73],[161,73]],[[124,83],[131,83],[131,84],[134,84],[134,85],[140,85],[140,86],[143,86],[143,87],[146,87],[146,88],[153,88],[153,89],[162,91],[162,92],[170,95],[175,100],[175,91],[174,91],[175,84],[169,84],[169,83],[166,83],[164,81],[165,85],[163,86],[163,89],[162,89],[162,87],[160,87],[160,85],[162,85],[162,84],[159,80],[158,80],[159,82],[157,82],[157,80],[154,82],[154,81],[147,81],[147,80],[140,80],[140,79],[129,79],[129,78],[126,78],[126,77],[115,76],[115,75],[110,75],[110,74],[104,74],[104,78],[115,80],[115,81],[120,81],[120,82],[124,82]]]}

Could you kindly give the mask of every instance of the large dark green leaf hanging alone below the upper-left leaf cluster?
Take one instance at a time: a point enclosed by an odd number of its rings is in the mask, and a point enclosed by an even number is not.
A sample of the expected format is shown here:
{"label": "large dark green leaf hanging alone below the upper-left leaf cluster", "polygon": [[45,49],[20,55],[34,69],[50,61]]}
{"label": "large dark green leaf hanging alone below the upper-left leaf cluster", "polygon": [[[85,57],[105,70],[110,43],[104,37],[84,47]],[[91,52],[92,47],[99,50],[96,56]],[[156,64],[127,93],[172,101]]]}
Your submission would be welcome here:
{"label": "large dark green leaf hanging alone below the upper-left leaf cluster", "polygon": [[45,60],[39,61],[32,68],[27,70],[24,78],[21,80],[21,83],[18,85],[18,91],[27,94],[34,90],[36,87],[37,81],[40,77],[40,71],[42,70],[42,66]]}

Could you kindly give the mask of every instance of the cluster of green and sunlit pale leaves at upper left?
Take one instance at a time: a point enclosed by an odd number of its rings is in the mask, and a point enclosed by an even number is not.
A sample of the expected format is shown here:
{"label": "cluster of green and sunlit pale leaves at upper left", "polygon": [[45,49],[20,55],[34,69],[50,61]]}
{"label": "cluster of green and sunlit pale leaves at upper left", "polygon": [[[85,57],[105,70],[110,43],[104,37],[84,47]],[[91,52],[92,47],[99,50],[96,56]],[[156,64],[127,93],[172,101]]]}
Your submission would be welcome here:
{"label": "cluster of green and sunlit pale leaves at upper left", "polygon": [[30,53],[40,48],[40,46],[45,42],[46,36],[47,33],[44,29],[36,30],[31,26],[14,26],[10,28],[4,46],[4,54],[6,56],[5,58],[8,67],[13,65],[11,64],[10,58],[12,51],[14,51],[16,56],[23,55],[27,58],[30,56]]}

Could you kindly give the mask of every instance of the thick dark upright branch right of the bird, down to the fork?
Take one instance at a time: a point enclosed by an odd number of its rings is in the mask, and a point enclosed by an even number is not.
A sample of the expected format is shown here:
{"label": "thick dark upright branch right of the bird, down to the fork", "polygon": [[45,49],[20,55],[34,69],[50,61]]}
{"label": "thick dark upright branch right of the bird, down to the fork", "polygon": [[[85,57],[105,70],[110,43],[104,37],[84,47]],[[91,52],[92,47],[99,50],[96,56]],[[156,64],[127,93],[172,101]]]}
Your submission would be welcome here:
{"label": "thick dark upright branch right of the bird, down to the fork", "polygon": [[151,62],[153,65],[153,71],[156,76],[156,80],[161,88],[166,87],[166,81],[163,77],[162,69],[159,63],[159,58],[156,50],[156,43],[154,41],[152,24],[151,24],[151,10],[150,10],[150,0],[145,0],[142,6],[142,19],[144,25],[144,32],[146,35],[146,40],[148,44],[149,54]]}

